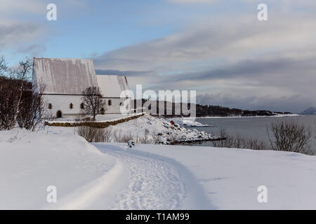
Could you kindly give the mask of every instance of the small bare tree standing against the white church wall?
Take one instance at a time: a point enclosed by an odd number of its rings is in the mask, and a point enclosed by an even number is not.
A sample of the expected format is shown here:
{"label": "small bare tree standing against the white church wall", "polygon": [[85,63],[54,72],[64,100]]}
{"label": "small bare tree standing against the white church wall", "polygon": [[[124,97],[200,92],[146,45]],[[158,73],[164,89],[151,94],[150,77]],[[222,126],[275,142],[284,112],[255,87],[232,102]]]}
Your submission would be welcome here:
{"label": "small bare tree standing against the white church wall", "polygon": [[88,87],[82,94],[84,94],[84,97],[82,97],[84,103],[81,110],[93,116],[93,120],[96,120],[96,116],[100,113],[100,110],[105,109],[105,102],[102,99],[100,88],[96,86]]}

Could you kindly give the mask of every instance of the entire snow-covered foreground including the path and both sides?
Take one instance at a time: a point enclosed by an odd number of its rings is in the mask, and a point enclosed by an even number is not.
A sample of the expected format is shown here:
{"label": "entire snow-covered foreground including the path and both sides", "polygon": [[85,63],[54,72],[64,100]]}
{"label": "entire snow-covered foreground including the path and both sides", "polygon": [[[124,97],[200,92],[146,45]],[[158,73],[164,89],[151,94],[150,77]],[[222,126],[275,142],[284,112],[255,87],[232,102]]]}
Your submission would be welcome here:
{"label": "entire snow-covered foreground including the path and both sides", "polygon": [[[60,129],[0,132],[0,209],[316,209],[315,156],[91,145]],[[268,203],[258,203],[258,186]]]}

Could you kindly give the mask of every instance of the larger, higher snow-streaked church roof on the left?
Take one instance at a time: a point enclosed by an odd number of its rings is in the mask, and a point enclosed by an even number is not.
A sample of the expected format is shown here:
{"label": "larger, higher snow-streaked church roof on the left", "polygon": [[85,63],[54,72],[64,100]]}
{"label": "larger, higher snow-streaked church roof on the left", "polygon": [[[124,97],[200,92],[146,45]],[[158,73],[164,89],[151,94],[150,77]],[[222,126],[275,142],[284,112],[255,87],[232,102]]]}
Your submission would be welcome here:
{"label": "larger, higher snow-streaked church roof on the left", "polygon": [[98,86],[92,59],[34,58],[33,81],[46,85],[46,94],[81,94]]}

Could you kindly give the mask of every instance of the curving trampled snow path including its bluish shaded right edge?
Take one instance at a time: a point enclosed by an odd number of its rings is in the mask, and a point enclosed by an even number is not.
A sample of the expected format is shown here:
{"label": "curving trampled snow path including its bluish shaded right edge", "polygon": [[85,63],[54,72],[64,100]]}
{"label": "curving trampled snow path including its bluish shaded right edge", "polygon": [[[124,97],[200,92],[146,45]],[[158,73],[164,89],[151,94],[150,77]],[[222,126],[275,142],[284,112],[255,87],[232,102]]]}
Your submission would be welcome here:
{"label": "curving trampled snow path including its bluish shaded right edge", "polygon": [[124,166],[124,174],[119,179],[127,182],[117,193],[111,209],[212,208],[195,178],[178,162],[159,155],[126,150],[125,146],[94,146],[117,158]]}

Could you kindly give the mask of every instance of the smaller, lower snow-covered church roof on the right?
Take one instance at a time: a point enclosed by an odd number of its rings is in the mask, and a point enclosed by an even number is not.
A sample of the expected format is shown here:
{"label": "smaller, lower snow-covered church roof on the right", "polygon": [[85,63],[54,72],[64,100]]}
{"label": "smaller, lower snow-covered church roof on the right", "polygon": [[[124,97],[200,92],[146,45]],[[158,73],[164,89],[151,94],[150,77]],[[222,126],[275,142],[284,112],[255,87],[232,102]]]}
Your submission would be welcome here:
{"label": "smaller, lower snow-covered church roof on the right", "polygon": [[103,97],[120,97],[124,90],[129,90],[126,76],[96,75]]}

